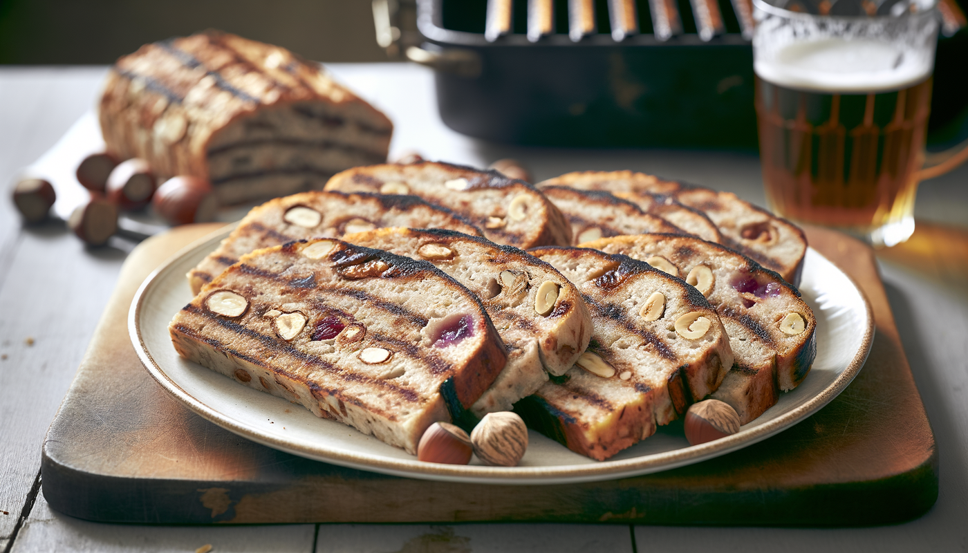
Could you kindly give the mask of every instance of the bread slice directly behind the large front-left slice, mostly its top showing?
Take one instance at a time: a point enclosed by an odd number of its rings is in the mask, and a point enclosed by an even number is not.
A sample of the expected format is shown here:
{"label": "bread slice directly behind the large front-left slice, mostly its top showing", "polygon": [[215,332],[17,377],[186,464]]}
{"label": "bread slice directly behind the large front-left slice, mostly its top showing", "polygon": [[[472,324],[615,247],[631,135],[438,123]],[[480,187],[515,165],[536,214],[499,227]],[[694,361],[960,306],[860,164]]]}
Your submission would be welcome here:
{"label": "bread slice directly behind the large front-left slice, mostly its top showing", "polygon": [[188,273],[193,293],[243,255],[316,237],[339,238],[379,227],[419,227],[480,234],[466,219],[414,196],[304,192],[253,208],[218,249]]}

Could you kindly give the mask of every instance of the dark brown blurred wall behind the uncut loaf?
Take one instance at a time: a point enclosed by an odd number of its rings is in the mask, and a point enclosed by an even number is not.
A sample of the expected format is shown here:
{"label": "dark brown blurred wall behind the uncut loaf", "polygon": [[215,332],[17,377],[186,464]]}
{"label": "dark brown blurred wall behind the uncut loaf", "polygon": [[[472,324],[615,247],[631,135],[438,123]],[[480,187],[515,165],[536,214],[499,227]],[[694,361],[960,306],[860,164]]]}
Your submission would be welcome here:
{"label": "dark brown blurred wall behind the uncut loaf", "polygon": [[0,0],[0,64],[105,65],[210,27],[323,62],[387,61],[370,0]]}

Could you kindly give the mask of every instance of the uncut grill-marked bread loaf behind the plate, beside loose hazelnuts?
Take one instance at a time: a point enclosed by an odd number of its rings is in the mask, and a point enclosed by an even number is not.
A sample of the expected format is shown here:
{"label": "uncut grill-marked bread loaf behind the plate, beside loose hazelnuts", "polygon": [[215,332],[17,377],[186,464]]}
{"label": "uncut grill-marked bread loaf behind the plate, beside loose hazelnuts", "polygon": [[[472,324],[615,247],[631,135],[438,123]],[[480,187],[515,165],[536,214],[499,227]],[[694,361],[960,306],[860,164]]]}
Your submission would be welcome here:
{"label": "uncut grill-marked bread loaf behind the plate, beside loose hazelnuts", "polygon": [[319,190],[343,169],[385,162],[393,130],[317,63],[217,31],[121,57],[100,119],[108,152],[162,179],[207,178],[224,204]]}

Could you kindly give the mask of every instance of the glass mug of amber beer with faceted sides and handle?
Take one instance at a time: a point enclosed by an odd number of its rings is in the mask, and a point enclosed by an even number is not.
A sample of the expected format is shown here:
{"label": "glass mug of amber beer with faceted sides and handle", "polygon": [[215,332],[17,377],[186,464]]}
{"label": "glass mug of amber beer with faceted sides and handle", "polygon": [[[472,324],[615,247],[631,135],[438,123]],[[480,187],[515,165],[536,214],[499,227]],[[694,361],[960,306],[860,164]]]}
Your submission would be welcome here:
{"label": "glass mug of amber beer with faceted sides and handle", "polygon": [[876,245],[914,231],[924,167],[936,0],[753,0],[753,59],[767,200],[788,219]]}

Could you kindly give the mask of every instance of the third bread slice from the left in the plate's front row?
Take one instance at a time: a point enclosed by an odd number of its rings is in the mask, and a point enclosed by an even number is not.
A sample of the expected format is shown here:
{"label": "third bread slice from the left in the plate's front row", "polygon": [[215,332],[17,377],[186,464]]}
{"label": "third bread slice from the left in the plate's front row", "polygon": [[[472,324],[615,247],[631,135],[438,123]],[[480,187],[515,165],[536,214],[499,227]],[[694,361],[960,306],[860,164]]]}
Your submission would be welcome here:
{"label": "third bread slice from the left in the plate's front row", "polygon": [[716,389],[733,364],[701,293],[648,263],[590,249],[531,251],[578,287],[591,312],[589,350],[515,411],[569,449],[604,460],[648,438]]}

